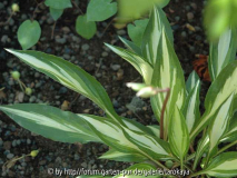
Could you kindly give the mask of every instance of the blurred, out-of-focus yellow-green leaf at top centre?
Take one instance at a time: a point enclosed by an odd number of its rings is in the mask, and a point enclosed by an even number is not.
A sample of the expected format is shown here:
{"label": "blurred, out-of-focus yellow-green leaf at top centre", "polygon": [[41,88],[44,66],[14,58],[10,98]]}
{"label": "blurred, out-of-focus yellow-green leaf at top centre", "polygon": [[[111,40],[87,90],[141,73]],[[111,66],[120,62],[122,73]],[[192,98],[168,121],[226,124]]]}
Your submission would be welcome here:
{"label": "blurred, out-of-focus yellow-green leaf at top centre", "polygon": [[[164,8],[169,0],[119,0],[118,1],[118,19],[119,22],[127,23],[136,19],[140,19],[148,13],[155,4]],[[136,8],[135,8],[136,7]]]}

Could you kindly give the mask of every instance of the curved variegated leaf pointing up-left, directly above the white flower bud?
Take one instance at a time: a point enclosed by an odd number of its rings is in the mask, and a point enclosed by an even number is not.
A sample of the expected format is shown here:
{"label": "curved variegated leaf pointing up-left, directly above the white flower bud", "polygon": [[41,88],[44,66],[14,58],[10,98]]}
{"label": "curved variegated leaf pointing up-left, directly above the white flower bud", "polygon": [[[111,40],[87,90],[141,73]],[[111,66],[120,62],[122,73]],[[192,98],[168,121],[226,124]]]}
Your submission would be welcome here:
{"label": "curved variegated leaf pointing up-left, directly above the white flower bud", "polygon": [[106,46],[113,52],[119,55],[121,58],[127,60],[129,63],[131,63],[135,67],[135,69],[142,76],[145,82],[150,83],[154,69],[148,62],[146,62],[146,60],[142,57],[119,47],[110,46],[107,43]]}

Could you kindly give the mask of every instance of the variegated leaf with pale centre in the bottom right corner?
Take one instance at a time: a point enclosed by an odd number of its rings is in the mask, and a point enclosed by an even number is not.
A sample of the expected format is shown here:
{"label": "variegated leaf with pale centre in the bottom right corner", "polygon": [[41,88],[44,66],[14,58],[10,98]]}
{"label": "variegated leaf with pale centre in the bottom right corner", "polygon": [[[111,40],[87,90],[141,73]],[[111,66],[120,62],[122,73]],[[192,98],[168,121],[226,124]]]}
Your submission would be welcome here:
{"label": "variegated leaf with pale centre in the bottom right corner", "polygon": [[237,176],[237,152],[224,152],[214,158],[201,174],[213,177]]}

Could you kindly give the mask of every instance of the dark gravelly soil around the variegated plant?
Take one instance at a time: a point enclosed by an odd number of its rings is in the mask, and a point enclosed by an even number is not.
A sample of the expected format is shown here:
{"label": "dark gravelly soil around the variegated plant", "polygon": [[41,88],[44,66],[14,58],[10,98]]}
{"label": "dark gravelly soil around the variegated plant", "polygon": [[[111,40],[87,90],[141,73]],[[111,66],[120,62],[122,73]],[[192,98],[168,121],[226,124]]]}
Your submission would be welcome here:
{"label": "dark gravelly soil around the variegated plant", "polygon": [[[19,100],[21,90],[10,78],[10,71],[12,70],[20,71],[22,81],[33,88],[32,96],[24,96],[23,102],[48,102],[56,107],[60,107],[66,100],[71,102],[77,93],[21,63],[3,50],[3,48],[21,49],[17,41],[17,29],[23,20],[32,17],[37,7],[36,1],[32,0],[1,0],[0,22],[7,21],[12,2],[19,2],[21,11],[13,16],[8,24],[0,27],[0,88],[6,87],[3,90],[6,96],[3,93],[0,96],[1,103],[13,103]],[[203,6],[204,2],[199,0],[172,0],[165,8],[172,24],[176,52],[184,67],[186,78],[192,71],[191,61],[195,60],[195,55],[208,53],[208,46],[205,42],[201,26]],[[86,11],[85,2],[81,2],[79,7],[82,11]],[[127,38],[126,29],[116,30],[110,26],[103,33],[110,19],[98,23],[98,33],[93,39],[85,40],[75,30],[75,21],[80,12],[73,7],[73,9],[66,10],[58,20],[55,38],[51,39],[53,20],[50,18],[48,8],[40,6],[36,14],[36,20],[40,21],[42,28],[42,36],[32,49],[62,57],[80,66],[105,86],[119,115],[127,118],[136,118],[136,115],[126,107],[127,103],[131,102],[135,92],[126,88],[125,83],[128,81],[141,81],[141,78],[128,62],[103,46],[103,42],[107,42],[122,47],[117,36]],[[191,31],[190,28],[188,29],[187,23],[192,26],[195,31]],[[121,76],[121,73],[124,75]],[[206,90],[207,87],[204,86],[201,99]],[[136,105],[140,108],[138,113],[142,118],[142,120],[137,120],[145,125],[156,123],[150,118],[152,112],[148,100],[145,100],[145,102],[138,100]],[[72,103],[69,110],[78,113],[102,115],[100,109],[82,96]],[[106,146],[87,144],[81,147],[80,145],[55,142],[19,127],[4,113],[0,112],[0,167],[7,160],[27,155],[34,149],[41,149],[34,159],[27,157],[18,161],[9,170],[1,170],[0,175],[2,177],[50,177],[47,172],[48,168],[122,169],[127,167],[122,162],[98,160],[97,158],[108,150]]]}

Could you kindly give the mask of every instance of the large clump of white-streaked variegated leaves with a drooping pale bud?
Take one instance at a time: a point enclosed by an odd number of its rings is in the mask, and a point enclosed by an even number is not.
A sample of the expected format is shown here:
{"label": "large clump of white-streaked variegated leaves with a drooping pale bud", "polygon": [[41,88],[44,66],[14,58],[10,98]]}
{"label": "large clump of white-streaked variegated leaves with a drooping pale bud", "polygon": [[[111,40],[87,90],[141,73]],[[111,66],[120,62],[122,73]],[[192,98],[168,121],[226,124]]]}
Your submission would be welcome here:
{"label": "large clump of white-streaked variegated leaves with a drooping pale bud", "polygon": [[[32,68],[92,100],[106,116],[72,113],[34,103],[0,106],[0,110],[26,129],[56,141],[106,144],[110,150],[100,159],[136,162],[127,170],[154,170],[156,177],[160,177],[157,168],[166,172],[181,169],[174,177],[237,176],[237,152],[228,151],[237,144],[237,61],[228,60],[226,65],[213,57],[215,62],[209,67],[215,69],[217,65],[220,70],[215,72],[205,99],[206,110],[200,115],[200,80],[192,72],[185,82],[170,24],[159,7],[154,7],[139,46],[127,39],[121,41],[128,49],[107,47],[142,76],[145,83],[128,86],[138,91],[138,96],[150,97],[157,125],[144,126],[118,116],[103,87],[93,77],[61,58],[38,51],[8,49]],[[224,53],[218,48],[213,50],[223,56],[233,47],[226,48]]]}

